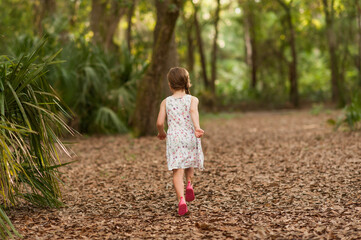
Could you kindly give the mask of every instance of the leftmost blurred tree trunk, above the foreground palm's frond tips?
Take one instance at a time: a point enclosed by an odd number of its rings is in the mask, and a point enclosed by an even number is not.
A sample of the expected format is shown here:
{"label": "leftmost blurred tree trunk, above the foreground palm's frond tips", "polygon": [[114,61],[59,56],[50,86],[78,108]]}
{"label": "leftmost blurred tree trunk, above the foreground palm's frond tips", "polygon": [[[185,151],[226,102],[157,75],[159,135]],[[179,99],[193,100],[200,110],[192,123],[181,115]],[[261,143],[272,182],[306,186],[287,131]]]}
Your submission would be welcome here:
{"label": "leftmost blurred tree trunk, above the foreground palm's frond tips", "polygon": [[34,26],[35,34],[42,36],[44,34],[43,20],[51,16],[56,11],[56,0],[40,0],[34,4]]}

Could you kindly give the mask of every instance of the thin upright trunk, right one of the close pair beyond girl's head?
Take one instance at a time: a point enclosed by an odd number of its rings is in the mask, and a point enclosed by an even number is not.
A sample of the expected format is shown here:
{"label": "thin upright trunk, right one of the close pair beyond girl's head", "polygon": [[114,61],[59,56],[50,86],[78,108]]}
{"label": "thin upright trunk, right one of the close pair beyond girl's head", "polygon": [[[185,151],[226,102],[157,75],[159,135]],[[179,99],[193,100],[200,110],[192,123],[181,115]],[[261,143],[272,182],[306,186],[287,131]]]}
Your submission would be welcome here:
{"label": "thin upright trunk, right one of the close pair beyond girl's head", "polygon": [[211,58],[211,92],[213,96],[216,95],[216,79],[217,79],[217,41],[218,41],[218,23],[219,23],[219,15],[221,11],[221,2],[217,0],[217,8],[214,19],[214,37],[213,37],[213,47],[212,47],[212,58]]}

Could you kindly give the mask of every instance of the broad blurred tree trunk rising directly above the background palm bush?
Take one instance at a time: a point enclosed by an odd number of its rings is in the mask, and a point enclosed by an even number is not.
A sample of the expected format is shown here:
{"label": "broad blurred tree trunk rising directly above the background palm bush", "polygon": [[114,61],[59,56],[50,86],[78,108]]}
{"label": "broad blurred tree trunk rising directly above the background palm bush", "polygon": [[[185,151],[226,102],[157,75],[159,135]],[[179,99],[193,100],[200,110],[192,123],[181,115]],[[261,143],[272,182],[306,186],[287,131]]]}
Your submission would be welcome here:
{"label": "broad blurred tree trunk rising directly above the background palm bush", "polygon": [[93,42],[106,50],[116,49],[113,37],[126,10],[117,0],[92,0],[90,27],[94,33]]}

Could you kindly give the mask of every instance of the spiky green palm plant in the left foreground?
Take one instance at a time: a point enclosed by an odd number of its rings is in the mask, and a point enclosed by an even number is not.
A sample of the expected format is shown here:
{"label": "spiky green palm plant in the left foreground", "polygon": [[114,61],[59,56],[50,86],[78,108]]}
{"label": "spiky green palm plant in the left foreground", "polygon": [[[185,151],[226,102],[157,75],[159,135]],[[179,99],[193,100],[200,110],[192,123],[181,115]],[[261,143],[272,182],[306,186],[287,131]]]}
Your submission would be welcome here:
{"label": "spiky green palm plant in the left foreground", "polygon": [[21,199],[37,206],[60,207],[59,150],[66,147],[58,136],[73,134],[69,117],[46,80],[47,66],[56,53],[39,59],[45,41],[12,59],[0,56],[0,238],[15,230],[4,209]]}

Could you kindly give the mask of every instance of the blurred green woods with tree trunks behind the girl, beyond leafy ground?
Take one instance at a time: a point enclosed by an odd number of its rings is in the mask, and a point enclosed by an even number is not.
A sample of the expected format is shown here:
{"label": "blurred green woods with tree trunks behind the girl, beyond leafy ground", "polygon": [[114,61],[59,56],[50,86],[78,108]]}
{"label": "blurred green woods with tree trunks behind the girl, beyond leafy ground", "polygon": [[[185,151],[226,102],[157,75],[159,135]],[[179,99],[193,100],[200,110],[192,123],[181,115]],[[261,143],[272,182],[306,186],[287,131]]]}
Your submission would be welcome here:
{"label": "blurred green woods with tree trunks behind the girl, beyond leafy ground", "polygon": [[[63,48],[59,60],[65,62],[49,80],[74,111],[71,124],[81,132],[133,127],[136,135],[154,133],[156,107],[170,93],[166,73],[178,65],[189,69],[192,93],[212,111],[313,102],[344,106],[360,87],[358,1],[2,0],[1,5],[4,54],[20,55],[43,35],[48,38],[43,57]],[[102,100],[90,104],[86,96]]]}

